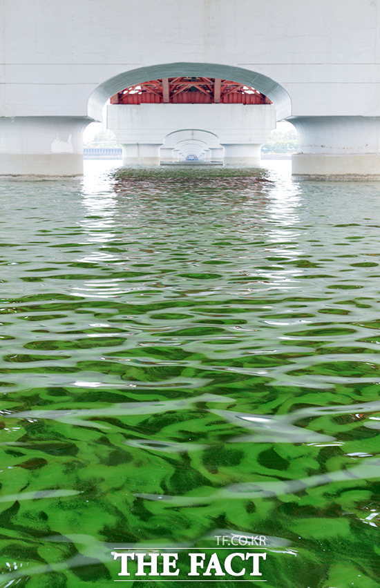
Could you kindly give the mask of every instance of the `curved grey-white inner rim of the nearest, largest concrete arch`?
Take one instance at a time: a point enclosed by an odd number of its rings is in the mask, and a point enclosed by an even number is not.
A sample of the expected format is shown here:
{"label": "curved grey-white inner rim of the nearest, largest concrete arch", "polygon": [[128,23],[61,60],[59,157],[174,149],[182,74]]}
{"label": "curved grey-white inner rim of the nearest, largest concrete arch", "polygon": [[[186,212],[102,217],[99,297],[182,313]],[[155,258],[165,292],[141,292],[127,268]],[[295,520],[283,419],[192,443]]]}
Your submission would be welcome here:
{"label": "curved grey-white inner rim of the nearest, largest concrete arch", "polygon": [[253,70],[226,66],[222,63],[161,63],[155,66],[137,68],[122,72],[99,84],[88,99],[88,116],[102,120],[102,110],[108,99],[129,86],[161,79],[163,77],[204,76],[229,79],[245,86],[256,88],[267,96],[276,108],[276,119],[281,120],[292,115],[292,103],[289,94],[278,82]]}

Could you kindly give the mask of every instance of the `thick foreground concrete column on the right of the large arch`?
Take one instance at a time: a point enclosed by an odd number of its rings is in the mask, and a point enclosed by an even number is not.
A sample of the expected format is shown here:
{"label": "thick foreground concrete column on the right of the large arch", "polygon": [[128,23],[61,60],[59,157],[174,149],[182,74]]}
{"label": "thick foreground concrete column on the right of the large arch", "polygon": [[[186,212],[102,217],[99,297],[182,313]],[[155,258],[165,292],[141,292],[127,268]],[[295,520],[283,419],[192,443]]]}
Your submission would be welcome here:
{"label": "thick foreground concrete column on the right of the large arch", "polygon": [[294,117],[296,179],[380,179],[378,117]]}

